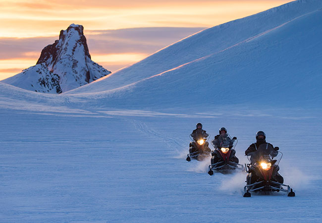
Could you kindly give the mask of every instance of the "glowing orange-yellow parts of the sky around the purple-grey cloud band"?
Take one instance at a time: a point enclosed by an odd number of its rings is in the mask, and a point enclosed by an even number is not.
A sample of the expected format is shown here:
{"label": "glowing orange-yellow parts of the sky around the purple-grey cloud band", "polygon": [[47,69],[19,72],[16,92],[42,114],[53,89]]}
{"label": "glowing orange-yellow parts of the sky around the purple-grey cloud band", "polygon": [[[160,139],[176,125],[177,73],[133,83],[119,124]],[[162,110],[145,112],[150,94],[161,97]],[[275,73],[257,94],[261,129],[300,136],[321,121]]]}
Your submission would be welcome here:
{"label": "glowing orange-yellow parts of the sky around the purple-grey cloud band", "polygon": [[[58,39],[59,31],[71,23],[83,25],[85,35],[95,30],[137,27],[201,27],[201,30],[202,27],[213,27],[286,2],[289,0],[0,0],[0,43],[3,38]],[[91,40],[90,37],[87,39]],[[175,37],[171,41],[179,39]],[[131,36],[127,36],[127,40],[131,41]],[[170,43],[167,41],[166,44]],[[16,74],[17,69],[35,65],[41,51],[38,52],[39,48],[45,46],[25,52],[22,57],[26,59],[0,55],[0,80]],[[11,48],[17,50],[18,46],[12,45]],[[129,49],[120,55],[110,49],[92,52],[90,48],[94,61],[123,65],[141,60],[155,51],[155,48],[145,53]],[[9,72],[10,69],[14,72]]]}

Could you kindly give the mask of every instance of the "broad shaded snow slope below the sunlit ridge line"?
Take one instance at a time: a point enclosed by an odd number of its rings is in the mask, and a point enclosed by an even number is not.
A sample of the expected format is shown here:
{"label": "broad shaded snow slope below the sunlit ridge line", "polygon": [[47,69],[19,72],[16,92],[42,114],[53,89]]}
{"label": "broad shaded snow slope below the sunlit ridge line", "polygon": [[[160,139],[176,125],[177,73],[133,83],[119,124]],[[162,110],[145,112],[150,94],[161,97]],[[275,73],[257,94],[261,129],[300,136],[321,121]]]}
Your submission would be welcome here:
{"label": "broad shaded snow slope below the sunlit ridge line", "polygon": [[107,89],[113,81],[105,78],[66,94],[120,108],[133,104],[137,108],[205,104],[321,108],[321,61],[322,10],[317,9],[155,76],[111,90]]}

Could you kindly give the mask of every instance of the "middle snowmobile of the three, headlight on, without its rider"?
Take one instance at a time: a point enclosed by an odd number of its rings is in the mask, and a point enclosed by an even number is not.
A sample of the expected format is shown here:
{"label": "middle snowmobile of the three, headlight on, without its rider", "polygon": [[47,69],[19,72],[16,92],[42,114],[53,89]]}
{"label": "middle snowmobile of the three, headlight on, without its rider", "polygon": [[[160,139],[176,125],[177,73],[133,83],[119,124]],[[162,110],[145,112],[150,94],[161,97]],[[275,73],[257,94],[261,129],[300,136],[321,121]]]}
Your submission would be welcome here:
{"label": "middle snowmobile of the three, headlight on, without its rider", "polygon": [[220,147],[217,147],[212,141],[212,145],[215,150],[212,151],[211,165],[209,165],[209,175],[214,174],[215,171],[220,171],[221,173],[230,173],[234,169],[240,169],[244,171],[244,166],[238,164],[239,160],[234,156],[234,148],[237,145],[237,138],[233,137],[232,140],[224,141]]}

